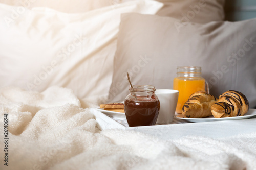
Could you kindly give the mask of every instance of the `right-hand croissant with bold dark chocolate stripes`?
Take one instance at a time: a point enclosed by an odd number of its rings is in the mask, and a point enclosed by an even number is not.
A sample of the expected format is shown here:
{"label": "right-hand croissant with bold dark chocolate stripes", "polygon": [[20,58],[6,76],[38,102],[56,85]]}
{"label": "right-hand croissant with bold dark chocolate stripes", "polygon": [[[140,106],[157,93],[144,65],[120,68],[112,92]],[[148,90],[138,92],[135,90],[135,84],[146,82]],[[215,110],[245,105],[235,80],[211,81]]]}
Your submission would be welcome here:
{"label": "right-hand croissant with bold dark chocolate stripes", "polygon": [[234,90],[221,94],[217,103],[211,106],[211,113],[215,118],[243,116],[248,110],[246,96]]}

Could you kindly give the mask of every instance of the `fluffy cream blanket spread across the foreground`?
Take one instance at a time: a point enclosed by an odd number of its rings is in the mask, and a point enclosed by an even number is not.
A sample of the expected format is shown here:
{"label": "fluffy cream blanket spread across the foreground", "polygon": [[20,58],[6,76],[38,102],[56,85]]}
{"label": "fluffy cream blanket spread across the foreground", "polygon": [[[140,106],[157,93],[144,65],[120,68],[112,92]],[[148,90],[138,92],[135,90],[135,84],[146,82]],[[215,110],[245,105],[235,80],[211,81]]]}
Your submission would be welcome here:
{"label": "fluffy cream blanket spread across the foreground", "polygon": [[0,169],[256,168],[256,132],[167,141],[135,131],[101,131],[96,112],[81,108],[65,88],[0,89]]}

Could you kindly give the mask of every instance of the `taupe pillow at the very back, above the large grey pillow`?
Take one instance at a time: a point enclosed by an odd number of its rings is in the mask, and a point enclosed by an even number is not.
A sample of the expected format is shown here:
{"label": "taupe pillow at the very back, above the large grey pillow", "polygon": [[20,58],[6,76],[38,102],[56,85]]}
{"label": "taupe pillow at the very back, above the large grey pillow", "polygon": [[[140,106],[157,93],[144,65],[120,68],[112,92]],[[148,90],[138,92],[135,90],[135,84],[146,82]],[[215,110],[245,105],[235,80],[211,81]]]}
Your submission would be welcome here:
{"label": "taupe pillow at the very back, above the large grey pillow", "polygon": [[[1,1],[1,0],[0,0]],[[126,2],[133,0],[115,0]],[[169,16],[179,19],[179,22],[190,21],[207,23],[224,20],[225,0],[157,0],[163,7],[157,12],[159,16]]]}

